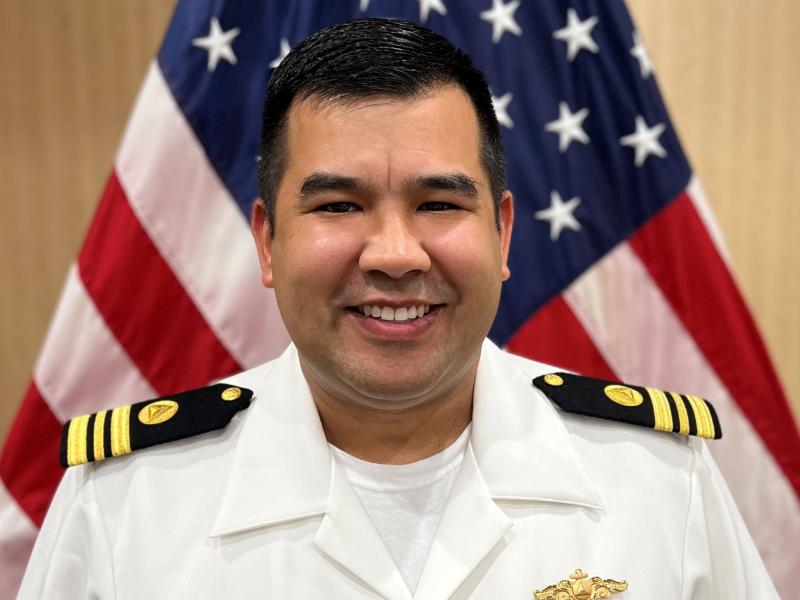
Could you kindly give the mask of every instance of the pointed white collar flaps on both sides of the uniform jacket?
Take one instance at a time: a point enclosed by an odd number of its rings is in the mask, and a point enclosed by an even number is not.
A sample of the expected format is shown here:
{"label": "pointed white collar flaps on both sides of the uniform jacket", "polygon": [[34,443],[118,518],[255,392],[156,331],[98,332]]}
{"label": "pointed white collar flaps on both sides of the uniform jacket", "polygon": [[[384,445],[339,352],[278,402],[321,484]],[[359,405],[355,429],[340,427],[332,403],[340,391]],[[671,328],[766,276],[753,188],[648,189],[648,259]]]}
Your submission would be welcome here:
{"label": "pointed white collar flaps on both sides of the uniform jacket", "polygon": [[[559,413],[531,384],[547,371],[484,342],[470,442],[477,471],[494,500],[600,510]],[[336,465],[294,345],[260,373],[212,537],[324,515],[335,491]]]}

